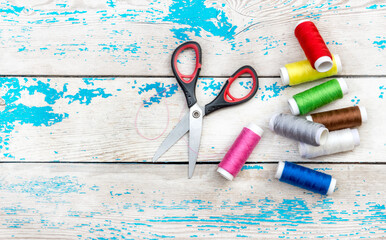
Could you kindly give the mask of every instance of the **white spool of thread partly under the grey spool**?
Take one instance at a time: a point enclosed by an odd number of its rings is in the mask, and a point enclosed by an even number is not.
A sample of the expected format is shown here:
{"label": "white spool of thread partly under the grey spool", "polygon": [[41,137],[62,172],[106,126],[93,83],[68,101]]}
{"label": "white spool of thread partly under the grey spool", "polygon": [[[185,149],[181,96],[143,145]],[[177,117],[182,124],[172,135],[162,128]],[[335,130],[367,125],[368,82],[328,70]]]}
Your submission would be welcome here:
{"label": "white spool of thread partly under the grey spool", "polygon": [[359,146],[360,138],[357,129],[342,129],[328,134],[323,146],[314,147],[305,143],[299,143],[300,156],[303,158],[315,158],[334,153],[347,152]]}

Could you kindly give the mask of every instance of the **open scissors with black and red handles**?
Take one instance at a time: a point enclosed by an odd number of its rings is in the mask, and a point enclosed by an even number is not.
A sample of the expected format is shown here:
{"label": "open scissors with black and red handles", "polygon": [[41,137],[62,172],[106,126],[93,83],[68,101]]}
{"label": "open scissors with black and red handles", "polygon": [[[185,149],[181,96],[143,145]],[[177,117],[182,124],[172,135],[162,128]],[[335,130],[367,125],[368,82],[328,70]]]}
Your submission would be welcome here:
{"label": "open scissors with black and red handles", "polygon": [[[196,67],[191,75],[181,74],[177,68],[177,59],[179,54],[186,50],[193,49],[196,54]],[[256,71],[250,66],[243,66],[237,70],[224,84],[220,93],[205,107],[201,107],[196,99],[196,83],[201,71],[201,47],[197,42],[189,41],[181,44],[172,55],[172,70],[177,79],[182,91],[185,94],[186,102],[189,107],[189,112],[181,119],[181,121],[169,133],[166,139],[162,142],[158,150],[155,152],[153,162],[157,161],[171,146],[173,146],[182,136],[189,131],[189,169],[188,177],[193,176],[196,166],[198,150],[201,141],[202,118],[220,108],[234,106],[244,103],[254,97],[259,89],[259,81]],[[229,89],[232,83],[241,75],[250,74],[253,80],[251,91],[242,98],[232,96]]]}

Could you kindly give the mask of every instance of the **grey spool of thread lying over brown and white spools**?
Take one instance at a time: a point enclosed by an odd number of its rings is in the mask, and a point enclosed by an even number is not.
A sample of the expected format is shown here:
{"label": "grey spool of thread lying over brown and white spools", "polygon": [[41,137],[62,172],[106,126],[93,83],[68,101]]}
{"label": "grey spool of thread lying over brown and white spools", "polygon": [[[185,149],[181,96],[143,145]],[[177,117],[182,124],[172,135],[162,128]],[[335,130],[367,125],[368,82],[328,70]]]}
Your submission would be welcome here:
{"label": "grey spool of thread lying over brown and white spools", "polygon": [[269,128],[281,136],[313,146],[323,145],[328,137],[328,129],[323,124],[283,113],[272,116]]}

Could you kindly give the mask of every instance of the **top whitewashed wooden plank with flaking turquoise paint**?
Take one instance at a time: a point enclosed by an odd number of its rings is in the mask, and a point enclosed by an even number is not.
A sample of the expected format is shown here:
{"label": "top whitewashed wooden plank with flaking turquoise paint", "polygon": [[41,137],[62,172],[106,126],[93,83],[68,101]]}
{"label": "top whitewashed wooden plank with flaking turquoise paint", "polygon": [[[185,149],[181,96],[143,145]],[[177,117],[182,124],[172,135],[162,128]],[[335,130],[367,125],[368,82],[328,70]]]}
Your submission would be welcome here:
{"label": "top whitewashed wooden plank with flaking turquoise paint", "polygon": [[386,7],[377,1],[15,0],[0,9],[4,75],[170,76],[172,51],[192,39],[203,76],[229,76],[235,63],[277,76],[305,58],[293,34],[302,19],[340,54],[342,74],[386,74]]}

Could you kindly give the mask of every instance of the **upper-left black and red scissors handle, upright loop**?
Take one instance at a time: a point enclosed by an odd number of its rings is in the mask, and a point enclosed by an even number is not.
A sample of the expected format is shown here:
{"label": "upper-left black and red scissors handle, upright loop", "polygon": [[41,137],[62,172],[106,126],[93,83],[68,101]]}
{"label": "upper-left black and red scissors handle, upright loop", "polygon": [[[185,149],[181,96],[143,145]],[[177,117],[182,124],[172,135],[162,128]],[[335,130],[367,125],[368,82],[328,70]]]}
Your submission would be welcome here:
{"label": "upper-left black and red scissors handle, upright loop", "polygon": [[[186,49],[192,48],[196,54],[196,67],[194,69],[194,72],[190,75],[184,75],[180,73],[180,71],[177,68],[177,59],[180,53]],[[190,108],[193,106],[196,102],[196,83],[198,75],[201,71],[201,47],[197,42],[189,41],[186,43],[181,44],[176,50],[174,50],[174,53],[172,55],[172,69],[174,76],[177,79],[178,84],[182,88],[182,91],[184,91],[186,102],[188,104],[188,107]]]}

